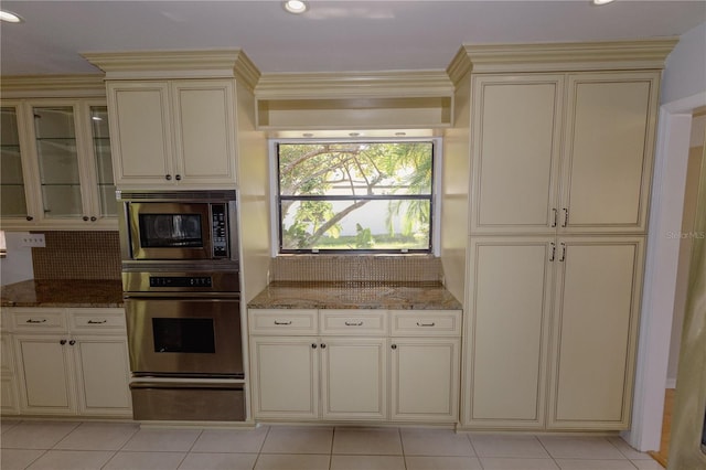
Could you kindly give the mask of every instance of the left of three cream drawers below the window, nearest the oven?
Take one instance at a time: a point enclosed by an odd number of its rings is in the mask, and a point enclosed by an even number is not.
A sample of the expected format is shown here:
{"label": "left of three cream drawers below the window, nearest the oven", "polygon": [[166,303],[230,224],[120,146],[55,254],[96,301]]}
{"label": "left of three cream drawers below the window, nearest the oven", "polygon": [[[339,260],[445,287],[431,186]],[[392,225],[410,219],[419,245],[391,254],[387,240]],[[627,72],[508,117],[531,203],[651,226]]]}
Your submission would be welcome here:
{"label": "left of three cream drawers below the window, nearest the oven", "polygon": [[311,335],[318,334],[317,310],[250,309],[250,334]]}

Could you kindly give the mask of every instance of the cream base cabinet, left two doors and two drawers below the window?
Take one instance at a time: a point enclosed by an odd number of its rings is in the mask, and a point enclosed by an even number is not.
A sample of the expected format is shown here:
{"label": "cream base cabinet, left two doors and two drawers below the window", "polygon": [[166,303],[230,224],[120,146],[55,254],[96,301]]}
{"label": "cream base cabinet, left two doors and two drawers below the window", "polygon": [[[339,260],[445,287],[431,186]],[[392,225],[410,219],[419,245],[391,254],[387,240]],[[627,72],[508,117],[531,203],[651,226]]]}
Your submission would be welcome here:
{"label": "cream base cabinet, left two doors and two drawers below the window", "polygon": [[385,311],[249,310],[249,324],[256,419],[386,419]]}

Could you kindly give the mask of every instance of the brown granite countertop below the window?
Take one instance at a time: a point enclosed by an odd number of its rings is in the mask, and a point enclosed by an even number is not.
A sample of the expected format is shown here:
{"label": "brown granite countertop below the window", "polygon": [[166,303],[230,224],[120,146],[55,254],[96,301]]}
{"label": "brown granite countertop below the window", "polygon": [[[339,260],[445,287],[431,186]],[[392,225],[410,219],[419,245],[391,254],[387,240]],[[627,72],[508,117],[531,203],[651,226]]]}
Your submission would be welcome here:
{"label": "brown granite countertop below the window", "polygon": [[248,302],[253,309],[460,310],[440,282],[276,281]]}

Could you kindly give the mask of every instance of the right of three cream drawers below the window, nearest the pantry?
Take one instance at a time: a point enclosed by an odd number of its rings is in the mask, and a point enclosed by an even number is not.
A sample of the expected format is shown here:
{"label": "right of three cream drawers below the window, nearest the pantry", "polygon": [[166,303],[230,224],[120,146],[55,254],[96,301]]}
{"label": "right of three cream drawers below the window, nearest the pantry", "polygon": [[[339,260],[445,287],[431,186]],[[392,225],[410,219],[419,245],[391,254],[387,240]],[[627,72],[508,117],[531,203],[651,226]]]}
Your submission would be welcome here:
{"label": "right of three cream drawers below the window, nearest the pantry", "polygon": [[393,337],[460,337],[460,310],[397,310],[391,314]]}

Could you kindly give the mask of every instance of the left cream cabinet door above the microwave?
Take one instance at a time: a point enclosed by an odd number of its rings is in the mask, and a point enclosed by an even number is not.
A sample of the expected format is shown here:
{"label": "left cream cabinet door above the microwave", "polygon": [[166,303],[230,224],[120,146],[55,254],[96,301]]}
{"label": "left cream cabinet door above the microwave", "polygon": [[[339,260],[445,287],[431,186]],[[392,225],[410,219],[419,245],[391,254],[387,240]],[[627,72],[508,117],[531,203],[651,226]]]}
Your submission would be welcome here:
{"label": "left cream cabinet door above the microwave", "polygon": [[107,92],[116,184],[173,184],[169,84],[108,83]]}

